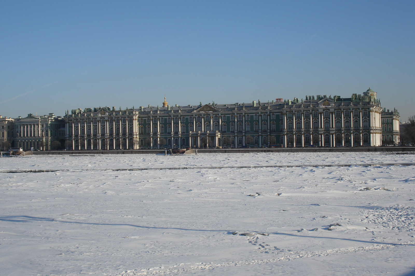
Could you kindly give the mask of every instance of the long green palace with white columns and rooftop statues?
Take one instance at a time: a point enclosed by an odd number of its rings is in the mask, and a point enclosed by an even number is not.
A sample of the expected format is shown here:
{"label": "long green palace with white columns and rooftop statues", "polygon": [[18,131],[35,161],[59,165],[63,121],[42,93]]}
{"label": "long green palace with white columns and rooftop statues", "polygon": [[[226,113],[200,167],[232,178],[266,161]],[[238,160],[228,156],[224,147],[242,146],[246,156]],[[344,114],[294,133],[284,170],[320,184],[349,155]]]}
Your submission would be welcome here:
{"label": "long green palace with white columns and rooftop statues", "polygon": [[362,95],[67,112],[68,149],[380,146],[381,104]]}

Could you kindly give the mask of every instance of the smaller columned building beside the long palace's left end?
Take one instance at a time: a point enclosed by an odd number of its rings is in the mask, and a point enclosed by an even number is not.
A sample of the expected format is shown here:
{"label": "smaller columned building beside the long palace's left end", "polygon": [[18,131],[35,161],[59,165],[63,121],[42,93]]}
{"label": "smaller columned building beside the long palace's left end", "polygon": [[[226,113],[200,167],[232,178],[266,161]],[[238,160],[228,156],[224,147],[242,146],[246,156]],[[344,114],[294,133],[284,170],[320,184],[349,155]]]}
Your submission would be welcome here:
{"label": "smaller columned building beside the long palace's left end", "polygon": [[15,147],[30,150],[63,149],[65,147],[65,121],[54,113],[15,119]]}

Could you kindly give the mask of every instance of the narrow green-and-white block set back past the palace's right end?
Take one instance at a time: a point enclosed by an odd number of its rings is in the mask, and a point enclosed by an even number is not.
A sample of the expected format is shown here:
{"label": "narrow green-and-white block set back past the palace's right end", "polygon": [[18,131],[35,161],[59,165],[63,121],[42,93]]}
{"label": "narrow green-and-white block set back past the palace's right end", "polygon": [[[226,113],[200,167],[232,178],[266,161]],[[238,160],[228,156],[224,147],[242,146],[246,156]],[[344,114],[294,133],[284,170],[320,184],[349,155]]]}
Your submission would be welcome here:
{"label": "narrow green-and-white block set back past the palace's right end", "polygon": [[396,109],[389,112],[383,108],[381,112],[382,145],[397,145],[400,142],[399,112]]}

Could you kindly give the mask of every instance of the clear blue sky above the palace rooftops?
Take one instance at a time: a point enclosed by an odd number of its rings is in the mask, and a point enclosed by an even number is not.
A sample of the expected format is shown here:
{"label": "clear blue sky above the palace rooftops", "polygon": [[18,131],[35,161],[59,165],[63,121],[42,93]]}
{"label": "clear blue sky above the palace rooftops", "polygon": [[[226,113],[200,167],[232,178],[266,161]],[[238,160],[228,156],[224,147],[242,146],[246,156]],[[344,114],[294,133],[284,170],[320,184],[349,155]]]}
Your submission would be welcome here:
{"label": "clear blue sky above the palace rooftops", "polygon": [[0,115],[370,86],[405,121],[415,115],[414,12],[414,1],[1,0]]}

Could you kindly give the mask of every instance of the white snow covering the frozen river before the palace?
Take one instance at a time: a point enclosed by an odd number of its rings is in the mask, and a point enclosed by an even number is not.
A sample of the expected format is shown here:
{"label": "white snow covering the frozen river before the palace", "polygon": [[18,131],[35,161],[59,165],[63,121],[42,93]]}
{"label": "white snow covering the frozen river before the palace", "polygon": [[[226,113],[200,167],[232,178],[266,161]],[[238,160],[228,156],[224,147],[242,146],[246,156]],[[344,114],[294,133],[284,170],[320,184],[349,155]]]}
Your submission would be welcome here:
{"label": "white snow covering the frozen river before the palace", "polygon": [[[0,158],[0,275],[405,275],[414,154]],[[304,165],[200,169],[208,166]],[[317,166],[315,164],[361,164]],[[179,168],[115,171],[129,168]]]}

